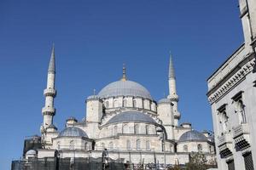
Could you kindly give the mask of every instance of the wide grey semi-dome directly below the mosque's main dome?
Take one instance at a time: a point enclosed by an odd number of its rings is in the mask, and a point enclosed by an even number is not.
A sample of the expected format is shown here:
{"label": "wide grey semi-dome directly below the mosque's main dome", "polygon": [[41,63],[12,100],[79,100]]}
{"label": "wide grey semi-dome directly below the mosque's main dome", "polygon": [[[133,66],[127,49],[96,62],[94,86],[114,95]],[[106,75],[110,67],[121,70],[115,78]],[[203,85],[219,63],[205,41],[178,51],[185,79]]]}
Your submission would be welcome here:
{"label": "wide grey semi-dome directly below the mosque's main dome", "polygon": [[116,123],[116,122],[149,122],[156,123],[154,119],[145,113],[137,112],[137,111],[125,111],[119,113],[116,116],[113,116],[107,123]]}

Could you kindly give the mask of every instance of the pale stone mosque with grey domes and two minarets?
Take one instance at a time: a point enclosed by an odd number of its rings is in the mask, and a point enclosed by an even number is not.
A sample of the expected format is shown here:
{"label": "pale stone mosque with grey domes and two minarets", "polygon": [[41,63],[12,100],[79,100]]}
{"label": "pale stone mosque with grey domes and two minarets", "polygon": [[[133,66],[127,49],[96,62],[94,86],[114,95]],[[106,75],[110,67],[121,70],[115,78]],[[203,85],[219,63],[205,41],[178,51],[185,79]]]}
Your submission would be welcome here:
{"label": "pale stone mosque with grey domes and two minarets", "polygon": [[[199,132],[189,122],[179,123],[178,95],[172,56],[169,63],[169,95],[155,101],[143,85],[125,75],[111,82],[98,94],[86,99],[83,120],[69,117],[64,129],[53,124],[56,110],[55,49],[49,61],[45,105],[38,145],[25,143],[23,159],[102,157],[134,164],[158,162],[165,165],[185,164],[191,153],[215,159],[214,140],[207,131]],[[35,140],[35,139],[33,139]]]}

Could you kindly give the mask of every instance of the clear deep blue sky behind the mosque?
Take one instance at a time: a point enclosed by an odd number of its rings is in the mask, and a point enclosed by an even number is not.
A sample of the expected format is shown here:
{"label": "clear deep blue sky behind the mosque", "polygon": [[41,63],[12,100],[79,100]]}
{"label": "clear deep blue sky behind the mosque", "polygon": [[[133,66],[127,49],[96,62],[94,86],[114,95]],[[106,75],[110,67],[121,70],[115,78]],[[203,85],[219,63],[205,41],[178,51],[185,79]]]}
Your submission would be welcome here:
{"label": "clear deep blue sky behind the mosque", "polygon": [[155,100],[167,87],[172,50],[181,122],[212,129],[207,77],[243,42],[238,1],[0,1],[0,169],[39,134],[43,90],[55,42],[57,113],[81,120],[86,97],[127,77]]}

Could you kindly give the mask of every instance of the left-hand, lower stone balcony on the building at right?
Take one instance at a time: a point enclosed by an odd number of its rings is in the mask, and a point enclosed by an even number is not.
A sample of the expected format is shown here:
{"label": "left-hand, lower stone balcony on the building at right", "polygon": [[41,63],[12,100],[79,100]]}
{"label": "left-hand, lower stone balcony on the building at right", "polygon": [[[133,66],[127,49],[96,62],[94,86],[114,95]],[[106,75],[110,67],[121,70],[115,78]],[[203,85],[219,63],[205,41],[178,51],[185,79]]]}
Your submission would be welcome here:
{"label": "left-hand, lower stone balcony on the building at right", "polygon": [[219,155],[223,157],[228,157],[232,155],[232,136],[230,133],[224,133],[218,137],[218,150]]}

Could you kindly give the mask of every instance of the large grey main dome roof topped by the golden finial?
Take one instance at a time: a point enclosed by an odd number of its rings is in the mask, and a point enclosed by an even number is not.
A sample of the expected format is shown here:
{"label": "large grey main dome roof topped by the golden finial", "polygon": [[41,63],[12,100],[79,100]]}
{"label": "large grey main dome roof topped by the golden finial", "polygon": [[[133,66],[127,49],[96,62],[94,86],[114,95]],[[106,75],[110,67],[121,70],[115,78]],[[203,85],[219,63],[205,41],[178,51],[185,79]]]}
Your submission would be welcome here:
{"label": "large grey main dome roof topped by the golden finial", "polygon": [[105,88],[99,92],[100,98],[108,98],[115,96],[137,96],[142,98],[152,99],[148,90],[141,84],[132,81],[117,81],[109,83]]}

